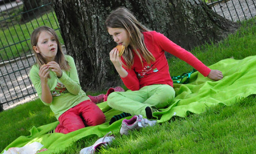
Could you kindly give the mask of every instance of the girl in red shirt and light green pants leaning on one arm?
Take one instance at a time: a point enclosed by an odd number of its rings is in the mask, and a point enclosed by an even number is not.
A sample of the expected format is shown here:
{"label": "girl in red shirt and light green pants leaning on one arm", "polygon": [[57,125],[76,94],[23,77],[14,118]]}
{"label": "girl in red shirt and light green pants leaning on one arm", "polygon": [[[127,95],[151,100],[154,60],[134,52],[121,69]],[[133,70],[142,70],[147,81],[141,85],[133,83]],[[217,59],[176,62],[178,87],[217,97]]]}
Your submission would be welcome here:
{"label": "girl in red shirt and light green pants leaning on one arm", "polygon": [[221,71],[210,70],[163,34],[147,29],[125,7],[112,11],[105,26],[114,41],[125,46],[121,57],[116,48],[110,51],[110,60],[125,86],[131,90],[109,95],[107,103],[113,109],[155,119],[153,112],[174,99],[175,91],[164,51],[184,60],[204,77],[223,78]]}

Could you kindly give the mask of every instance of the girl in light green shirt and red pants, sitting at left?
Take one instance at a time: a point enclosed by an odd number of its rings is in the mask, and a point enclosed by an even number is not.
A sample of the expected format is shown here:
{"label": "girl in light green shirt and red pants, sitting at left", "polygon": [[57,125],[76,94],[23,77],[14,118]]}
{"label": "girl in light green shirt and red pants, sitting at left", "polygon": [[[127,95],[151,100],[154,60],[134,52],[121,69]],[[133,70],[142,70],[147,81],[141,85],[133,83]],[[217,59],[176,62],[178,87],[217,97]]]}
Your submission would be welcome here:
{"label": "girl in light green shirt and red pants, sitting at left", "polygon": [[55,132],[69,132],[105,122],[105,115],[81,89],[74,59],[62,52],[56,32],[40,26],[31,35],[37,60],[29,72],[42,103],[50,106],[59,125]]}

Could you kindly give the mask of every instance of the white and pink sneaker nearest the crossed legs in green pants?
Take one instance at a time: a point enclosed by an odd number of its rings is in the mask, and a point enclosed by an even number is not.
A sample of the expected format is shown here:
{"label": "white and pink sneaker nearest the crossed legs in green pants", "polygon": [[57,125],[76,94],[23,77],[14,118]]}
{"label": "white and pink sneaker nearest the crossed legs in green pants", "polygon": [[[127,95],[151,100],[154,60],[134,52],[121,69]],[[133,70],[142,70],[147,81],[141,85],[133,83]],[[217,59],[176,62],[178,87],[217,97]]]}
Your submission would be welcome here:
{"label": "white and pink sneaker nearest the crossed legs in green pants", "polygon": [[129,130],[140,129],[147,126],[154,126],[157,121],[150,121],[142,118],[142,115],[134,115],[130,120],[124,119],[120,129],[120,134],[128,135]]}

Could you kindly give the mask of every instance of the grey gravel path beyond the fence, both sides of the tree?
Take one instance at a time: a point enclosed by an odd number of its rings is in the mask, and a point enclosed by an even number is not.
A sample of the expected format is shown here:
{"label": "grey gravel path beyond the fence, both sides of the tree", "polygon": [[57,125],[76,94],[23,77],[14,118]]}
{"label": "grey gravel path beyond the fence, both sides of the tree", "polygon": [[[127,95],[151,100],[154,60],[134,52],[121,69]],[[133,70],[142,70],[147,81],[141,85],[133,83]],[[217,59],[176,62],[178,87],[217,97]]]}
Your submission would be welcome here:
{"label": "grey gravel path beyond the fence, both sides of the tree", "polygon": [[[250,19],[256,15],[256,6],[253,0],[225,0],[211,7],[221,16],[233,21]],[[66,52],[64,47],[63,50]],[[35,63],[33,56],[12,61],[11,63],[0,63],[0,103],[5,103],[18,97],[25,96],[25,98],[3,104],[4,109],[12,108],[20,103],[26,103],[37,97],[36,94],[33,94],[35,90],[28,77],[30,66]],[[9,75],[7,75],[8,73]]]}

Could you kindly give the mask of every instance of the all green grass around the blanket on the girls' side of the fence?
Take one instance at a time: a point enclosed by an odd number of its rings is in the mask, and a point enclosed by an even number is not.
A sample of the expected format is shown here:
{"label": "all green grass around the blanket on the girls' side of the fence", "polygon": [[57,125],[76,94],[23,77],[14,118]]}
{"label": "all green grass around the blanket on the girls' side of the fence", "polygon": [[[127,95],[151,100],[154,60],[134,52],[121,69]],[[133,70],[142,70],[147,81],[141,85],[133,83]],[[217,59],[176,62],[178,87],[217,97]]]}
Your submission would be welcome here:
{"label": "all green grass around the blanket on the girls' side of the fence", "polygon": [[[206,44],[191,51],[204,64],[233,57],[242,59],[255,55],[256,20],[244,21],[235,34],[218,44]],[[168,59],[171,75],[180,75],[192,68],[177,58]],[[180,69],[183,68],[183,69]],[[103,154],[240,154],[256,151],[256,98],[236,100],[231,106],[216,106],[200,115],[172,119],[154,127],[131,132],[116,139]],[[56,121],[49,108],[39,100],[0,113],[0,151],[20,135],[29,135],[29,128]],[[24,129],[24,130],[23,130]],[[55,154],[79,154],[98,137],[81,139]]]}

